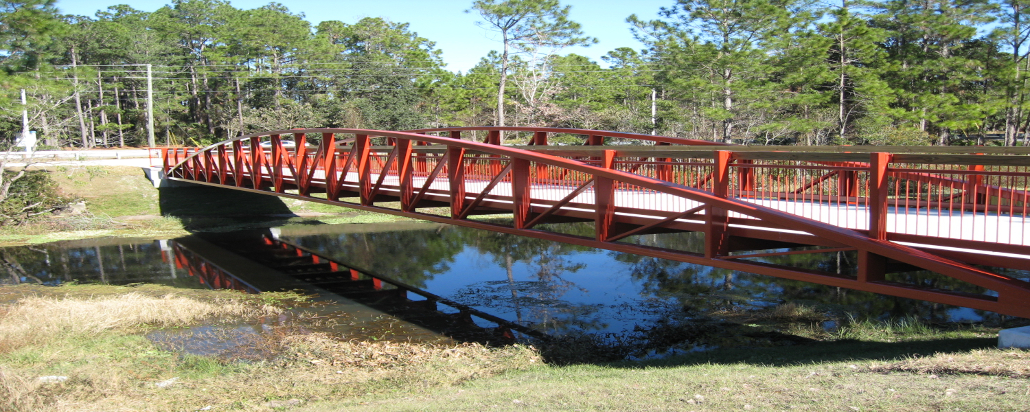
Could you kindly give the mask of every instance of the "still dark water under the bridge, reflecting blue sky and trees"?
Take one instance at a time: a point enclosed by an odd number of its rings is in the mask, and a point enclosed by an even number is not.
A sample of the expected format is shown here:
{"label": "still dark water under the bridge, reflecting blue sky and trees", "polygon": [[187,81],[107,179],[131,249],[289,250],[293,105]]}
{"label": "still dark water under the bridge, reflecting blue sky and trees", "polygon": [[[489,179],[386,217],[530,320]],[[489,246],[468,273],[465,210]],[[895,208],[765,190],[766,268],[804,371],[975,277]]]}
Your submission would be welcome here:
{"label": "still dark water under the bridge, reflecting blue sky and trees", "polygon": [[[553,229],[553,228],[552,228]],[[589,227],[564,225],[565,232]],[[754,309],[784,302],[859,317],[917,315],[976,321],[998,315],[801,281],[598,250],[512,235],[421,222],[275,228],[279,238],[548,334],[618,335],[671,318]],[[199,234],[203,237],[203,234]],[[219,234],[226,236],[226,234]],[[637,243],[697,250],[701,235],[645,235]],[[205,250],[193,250],[203,254]],[[159,283],[206,288],[176,268],[168,241],[92,239],[0,248],[2,283]],[[778,256],[765,262],[854,272],[854,252]],[[235,274],[245,279],[246,273]],[[1027,279],[1026,273],[1010,273]],[[923,272],[892,280],[984,290]]]}

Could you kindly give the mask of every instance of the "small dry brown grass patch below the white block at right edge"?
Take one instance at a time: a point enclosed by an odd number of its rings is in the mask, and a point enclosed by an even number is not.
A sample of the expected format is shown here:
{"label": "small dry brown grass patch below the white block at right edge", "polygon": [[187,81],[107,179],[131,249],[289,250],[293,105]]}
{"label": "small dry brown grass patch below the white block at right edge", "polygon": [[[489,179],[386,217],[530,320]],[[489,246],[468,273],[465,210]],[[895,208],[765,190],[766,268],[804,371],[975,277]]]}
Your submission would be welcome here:
{"label": "small dry brown grass patch below the white block at right edge", "polygon": [[1030,351],[982,349],[965,353],[936,353],[869,367],[872,372],[915,372],[918,374],[975,374],[1030,378]]}

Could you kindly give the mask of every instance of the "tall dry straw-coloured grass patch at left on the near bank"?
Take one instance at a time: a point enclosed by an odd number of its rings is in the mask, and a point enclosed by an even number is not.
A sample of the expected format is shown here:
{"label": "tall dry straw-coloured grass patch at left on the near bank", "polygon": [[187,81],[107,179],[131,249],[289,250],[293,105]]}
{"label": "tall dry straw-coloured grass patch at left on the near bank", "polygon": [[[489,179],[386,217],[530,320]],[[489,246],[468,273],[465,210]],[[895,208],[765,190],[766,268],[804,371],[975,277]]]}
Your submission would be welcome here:
{"label": "tall dry straw-coloured grass patch at left on the near bank", "polygon": [[55,338],[141,325],[182,327],[213,316],[272,314],[279,309],[234,301],[201,302],[136,293],[98,298],[29,297],[0,308],[0,352]]}

